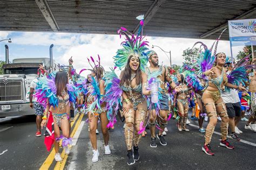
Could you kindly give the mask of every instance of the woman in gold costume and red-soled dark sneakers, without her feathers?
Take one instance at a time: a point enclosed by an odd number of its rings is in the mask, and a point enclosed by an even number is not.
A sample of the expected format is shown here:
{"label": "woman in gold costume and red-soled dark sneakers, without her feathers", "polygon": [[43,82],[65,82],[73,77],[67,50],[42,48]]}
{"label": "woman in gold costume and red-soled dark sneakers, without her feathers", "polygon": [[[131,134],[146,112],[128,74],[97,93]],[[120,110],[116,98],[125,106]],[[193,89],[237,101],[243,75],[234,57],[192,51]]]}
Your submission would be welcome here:
{"label": "woman in gold costume and red-soled dark sneakers, without her feathers", "polygon": [[218,53],[215,55],[215,67],[206,70],[203,75],[208,77],[208,87],[203,94],[203,102],[210,118],[205,132],[205,144],[202,150],[208,155],[214,155],[211,151],[210,141],[212,134],[217,124],[217,114],[221,117],[221,141],[220,146],[224,146],[230,149],[234,147],[227,141],[227,129],[228,129],[228,116],[226,105],[220,96],[220,91],[225,90],[225,86],[229,88],[245,90],[244,87],[235,86],[228,82],[224,65],[226,62],[225,53]]}

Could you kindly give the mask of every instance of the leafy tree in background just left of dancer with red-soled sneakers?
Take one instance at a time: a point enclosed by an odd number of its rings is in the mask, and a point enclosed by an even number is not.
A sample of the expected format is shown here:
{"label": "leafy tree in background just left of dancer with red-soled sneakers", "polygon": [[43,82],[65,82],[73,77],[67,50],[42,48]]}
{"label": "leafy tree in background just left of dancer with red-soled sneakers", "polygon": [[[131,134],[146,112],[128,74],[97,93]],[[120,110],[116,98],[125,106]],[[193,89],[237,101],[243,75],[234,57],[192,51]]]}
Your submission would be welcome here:
{"label": "leafy tree in background just left of dancer with red-soled sneakers", "polygon": [[190,65],[194,63],[199,56],[199,48],[187,48],[183,51],[183,59],[185,60],[183,64]]}

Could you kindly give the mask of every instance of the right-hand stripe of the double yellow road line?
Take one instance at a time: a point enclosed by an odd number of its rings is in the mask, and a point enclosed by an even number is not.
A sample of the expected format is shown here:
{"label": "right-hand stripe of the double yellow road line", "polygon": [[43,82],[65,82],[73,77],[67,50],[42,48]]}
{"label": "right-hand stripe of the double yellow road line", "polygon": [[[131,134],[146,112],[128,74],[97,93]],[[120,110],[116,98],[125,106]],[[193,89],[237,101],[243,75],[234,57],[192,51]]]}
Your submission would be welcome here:
{"label": "right-hand stripe of the double yellow road line", "polygon": [[[77,123],[76,123],[76,125],[75,125],[75,128],[73,129],[72,133],[70,134],[70,137],[71,137],[71,138],[73,138],[73,136],[75,135],[75,133],[76,133],[76,131],[77,131],[77,129],[78,129],[78,127],[79,127],[81,121],[82,121],[83,116],[84,116],[84,114],[82,114],[82,115],[79,117],[79,119],[78,119],[78,121],[77,121]],[[71,150],[71,147],[72,147],[72,146],[69,147],[70,150]],[[65,151],[64,151],[64,150],[62,151],[61,157],[63,158],[63,161],[57,162],[57,164],[56,164],[55,167],[54,167],[55,170],[56,170],[56,169],[64,169],[64,167],[65,167],[66,160],[68,159],[68,155],[65,154]]]}

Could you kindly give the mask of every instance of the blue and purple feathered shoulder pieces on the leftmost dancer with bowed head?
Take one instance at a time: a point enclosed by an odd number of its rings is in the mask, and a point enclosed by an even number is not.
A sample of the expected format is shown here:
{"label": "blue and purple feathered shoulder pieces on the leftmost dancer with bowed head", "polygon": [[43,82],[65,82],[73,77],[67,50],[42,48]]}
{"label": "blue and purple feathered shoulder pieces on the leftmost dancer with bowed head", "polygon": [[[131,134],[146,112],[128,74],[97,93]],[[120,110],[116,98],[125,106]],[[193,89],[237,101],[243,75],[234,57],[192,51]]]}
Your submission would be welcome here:
{"label": "blue and purple feathered shoulder pieces on the leftmost dancer with bowed head", "polygon": [[[53,107],[58,106],[57,99],[57,88],[55,85],[55,75],[51,74],[49,79],[47,77],[41,77],[37,81],[36,86],[36,98],[37,102],[46,106],[47,100],[49,100],[49,104]],[[73,84],[66,84],[66,88],[68,89],[69,101],[75,103],[76,98],[78,96],[78,89]]]}

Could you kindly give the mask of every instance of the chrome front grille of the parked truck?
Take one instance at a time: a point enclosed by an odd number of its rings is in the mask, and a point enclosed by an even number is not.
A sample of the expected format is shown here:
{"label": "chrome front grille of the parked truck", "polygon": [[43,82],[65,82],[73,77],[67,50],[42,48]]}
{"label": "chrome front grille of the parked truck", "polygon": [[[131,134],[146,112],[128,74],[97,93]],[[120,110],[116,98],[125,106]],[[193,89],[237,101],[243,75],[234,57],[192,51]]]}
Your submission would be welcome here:
{"label": "chrome front grille of the parked truck", "polygon": [[22,82],[0,82],[0,102],[22,101]]}

